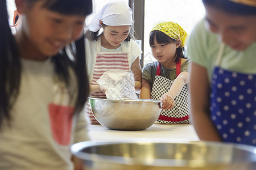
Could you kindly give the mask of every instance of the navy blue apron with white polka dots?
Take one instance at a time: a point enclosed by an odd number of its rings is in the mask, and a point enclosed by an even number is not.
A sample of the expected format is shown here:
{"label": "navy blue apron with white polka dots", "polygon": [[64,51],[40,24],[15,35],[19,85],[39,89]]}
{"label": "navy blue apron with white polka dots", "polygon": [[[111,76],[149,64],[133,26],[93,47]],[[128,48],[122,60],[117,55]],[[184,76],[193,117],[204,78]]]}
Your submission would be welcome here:
{"label": "navy blue apron with white polka dots", "polygon": [[219,67],[224,46],[212,74],[211,118],[223,141],[256,146],[256,75]]}

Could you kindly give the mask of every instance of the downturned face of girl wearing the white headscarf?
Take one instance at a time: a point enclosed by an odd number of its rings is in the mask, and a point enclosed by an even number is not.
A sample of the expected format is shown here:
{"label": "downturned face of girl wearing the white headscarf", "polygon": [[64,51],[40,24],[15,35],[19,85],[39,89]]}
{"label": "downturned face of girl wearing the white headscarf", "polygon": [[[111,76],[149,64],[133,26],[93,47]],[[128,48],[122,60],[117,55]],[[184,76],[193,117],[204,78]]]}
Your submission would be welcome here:
{"label": "downturned face of girl wearing the white headscarf", "polygon": [[101,45],[105,48],[115,49],[120,46],[130,32],[130,25],[122,26],[106,26],[103,25],[104,31],[103,35],[106,41],[102,41]]}

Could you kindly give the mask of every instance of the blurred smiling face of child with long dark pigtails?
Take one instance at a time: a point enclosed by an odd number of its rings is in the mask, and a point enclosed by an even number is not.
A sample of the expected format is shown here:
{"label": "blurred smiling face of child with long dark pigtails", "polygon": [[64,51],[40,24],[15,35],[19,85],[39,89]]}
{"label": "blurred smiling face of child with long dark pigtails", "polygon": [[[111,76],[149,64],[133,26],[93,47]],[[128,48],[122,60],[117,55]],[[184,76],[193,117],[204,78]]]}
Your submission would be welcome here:
{"label": "blurred smiling face of child with long dark pigtails", "polygon": [[44,0],[32,5],[22,2],[17,6],[22,14],[22,27],[17,39],[25,52],[22,56],[29,59],[54,56],[65,45],[77,40],[84,28],[85,16],[59,14],[44,8],[44,3]]}

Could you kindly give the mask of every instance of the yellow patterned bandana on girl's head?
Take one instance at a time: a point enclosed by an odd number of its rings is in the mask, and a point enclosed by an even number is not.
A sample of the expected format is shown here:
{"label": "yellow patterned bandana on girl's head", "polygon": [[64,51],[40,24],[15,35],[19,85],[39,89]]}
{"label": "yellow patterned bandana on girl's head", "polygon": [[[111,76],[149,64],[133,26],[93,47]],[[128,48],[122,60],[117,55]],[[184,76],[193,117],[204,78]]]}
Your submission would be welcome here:
{"label": "yellow patterned bandana on girl's head", "polygon": [[188,34],[184,31],[183,28],[180,27],[179,24],[174,22],[160,22],[155,24],[151,32],[155,30],[165,33],[167,36],[174,40],[180,39],[181,48],[185,46],[185,40],[187,39]]}

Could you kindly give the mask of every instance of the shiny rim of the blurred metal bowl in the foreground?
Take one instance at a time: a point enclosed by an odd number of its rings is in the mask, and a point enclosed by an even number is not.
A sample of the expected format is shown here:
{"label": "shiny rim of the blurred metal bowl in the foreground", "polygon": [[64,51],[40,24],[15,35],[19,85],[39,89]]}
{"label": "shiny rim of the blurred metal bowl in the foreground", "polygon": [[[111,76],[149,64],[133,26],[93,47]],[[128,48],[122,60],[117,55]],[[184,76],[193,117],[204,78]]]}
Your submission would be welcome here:
{"label": "shiny rim of the blurred metal bowl in the foreground", "polygon": [[[98,141],[84,141],[84,142],[79,142],[75,143],[71,146],[71,152],[73,155],[77,156],[80,159],[84,160],[90,160],[92,162],[106,162],[106,163],[113,163],[116,164],[117,162],[119,164],[126,164],[126,165],[146,165],[146,166],[158,166],[158,167],[205,167],[204,164],[201,164],[201,160],[186,160],[186,159],[148,159],[148,158],[143,158],[141,160],[137,160],[137,158],[124,158],[122,156],[111,156],[111,155],[101,155],[101,154],[89,154],[85,152],[81,152],[82,149],[92,147],[92,146],[104,146],[104,145],[118,145],[118,144],[137,144],[137,145],[150,145],[154,143],[172,143],[174,145],[176,144],[187,144],[187,145],[198,145],[198,146],[220,146],[220,147],[232,147],[232,148],[237,148],[241,149],[243,151],[251,152],[254,153],[255,147],[249,146],[249,145],[242,145],[242,144],[237,144],[237,143],[224,143],[224,142],[212,142],[212,141],[176,141],[176,142],[170,142],[170,141],[151,141],[151,140],[139,140],[139,141],[116,141],[116,142],[98,142]],[[150,160],[150,162],[148,162]],[[153,162],[152,162],[153,161]],[[235,163],[256,163],[255,160],[248,161],[248,160],[243,160],[242,161],[237,161]],[[195,166],[196,165],[196,166]],[[218,161],[218,162],[212,162],[208,163],[208,165],[227,165],[227,163]]]}

